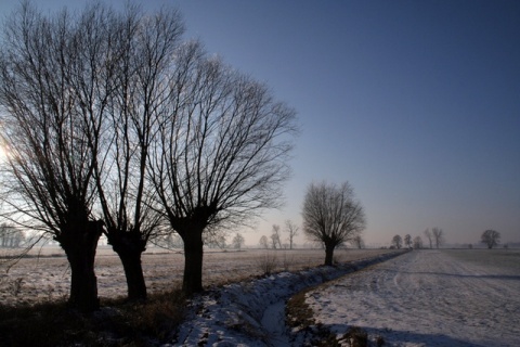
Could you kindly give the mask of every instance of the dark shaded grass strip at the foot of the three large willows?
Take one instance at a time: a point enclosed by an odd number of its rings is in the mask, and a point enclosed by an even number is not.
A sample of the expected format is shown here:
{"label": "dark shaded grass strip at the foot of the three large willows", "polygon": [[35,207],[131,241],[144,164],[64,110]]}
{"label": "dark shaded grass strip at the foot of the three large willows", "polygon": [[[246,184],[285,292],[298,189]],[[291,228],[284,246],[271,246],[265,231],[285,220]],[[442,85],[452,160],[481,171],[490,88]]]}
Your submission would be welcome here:
{"label": "dark shaded grass strip at the foot of the three large willows", "polygon": [[102,303],[82,316],[65,301],[0,306],[1,346],[151,346],[165,343],[183,320],[180,291],[154,294],[145,304]]}

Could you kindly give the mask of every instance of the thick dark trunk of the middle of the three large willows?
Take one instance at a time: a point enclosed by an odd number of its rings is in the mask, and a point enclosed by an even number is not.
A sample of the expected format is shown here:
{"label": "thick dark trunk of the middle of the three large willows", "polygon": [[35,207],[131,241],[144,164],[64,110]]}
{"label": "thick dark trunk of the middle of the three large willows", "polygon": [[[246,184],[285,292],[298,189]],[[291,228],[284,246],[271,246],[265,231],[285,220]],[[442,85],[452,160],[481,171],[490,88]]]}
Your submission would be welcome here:
{"label": "thick dark trunk of the middle of the three large willows", "polygon": [[146,283],[144,282],[141,255],[146,250],[146,242],[138,232],[109,232],[108,243],[121,259],[127,278],[128,300],[146,300]]}

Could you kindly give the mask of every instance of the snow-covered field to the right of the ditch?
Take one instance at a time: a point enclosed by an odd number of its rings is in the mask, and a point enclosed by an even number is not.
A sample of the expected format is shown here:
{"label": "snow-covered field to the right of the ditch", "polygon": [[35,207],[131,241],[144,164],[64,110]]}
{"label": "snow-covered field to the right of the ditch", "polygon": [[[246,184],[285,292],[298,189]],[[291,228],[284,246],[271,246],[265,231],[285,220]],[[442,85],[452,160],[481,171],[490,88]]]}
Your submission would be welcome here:
{"label": "snow-covered field to the right of the ditch", "polygon": [[373,346],[376,336],[385,346],[520,346],[518,268],[460,252],[471,250],[414,250],[322,285],[306,303],[317,323],[339,336],[360,326]]}

